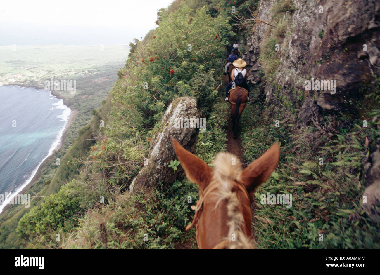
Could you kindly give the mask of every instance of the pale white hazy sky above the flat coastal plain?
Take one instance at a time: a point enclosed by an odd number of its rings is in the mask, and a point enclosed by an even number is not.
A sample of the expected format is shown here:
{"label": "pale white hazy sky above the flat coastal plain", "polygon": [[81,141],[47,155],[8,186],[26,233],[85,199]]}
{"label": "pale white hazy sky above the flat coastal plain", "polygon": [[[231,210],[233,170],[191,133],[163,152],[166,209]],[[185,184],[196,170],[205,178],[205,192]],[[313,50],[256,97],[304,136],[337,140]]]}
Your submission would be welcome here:
{"label": "pale white hazy sky above the flat coastal plain", "polygon": [[0,45],[129,44],[157,27],[157,11],[174,0],[7,0]]}

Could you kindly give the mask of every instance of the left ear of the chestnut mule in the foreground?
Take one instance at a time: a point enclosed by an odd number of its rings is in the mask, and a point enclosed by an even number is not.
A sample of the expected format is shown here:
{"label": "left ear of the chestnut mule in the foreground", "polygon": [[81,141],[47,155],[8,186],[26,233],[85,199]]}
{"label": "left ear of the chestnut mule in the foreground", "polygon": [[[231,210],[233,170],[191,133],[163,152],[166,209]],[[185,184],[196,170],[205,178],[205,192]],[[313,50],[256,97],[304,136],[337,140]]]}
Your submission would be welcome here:
{"label": "left ear of the chestnut mule in the foreground", "polygon": [[211,176],[211,167],[209,167],[206,162],[183,148],[174,138],[172,138],[172,141],[177,158],[180,161],[182,168],[184,168],[189,181],[199,184],[199,187],[204,188],[204,185]]}

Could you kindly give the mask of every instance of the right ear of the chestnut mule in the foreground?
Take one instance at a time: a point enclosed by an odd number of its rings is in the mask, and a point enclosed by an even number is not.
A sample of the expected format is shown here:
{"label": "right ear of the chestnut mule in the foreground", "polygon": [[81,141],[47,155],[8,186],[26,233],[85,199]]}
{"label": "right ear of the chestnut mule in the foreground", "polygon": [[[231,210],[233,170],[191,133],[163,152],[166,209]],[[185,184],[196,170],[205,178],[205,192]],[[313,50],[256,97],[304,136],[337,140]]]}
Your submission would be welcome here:
{"label": "right ear of the chestnut mule in the foreground", "polygon": [[271,176],[279,159],[279,144],[274,143],[268,151],[244,169],[242,181],[250,195]]}

